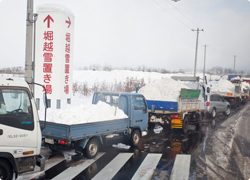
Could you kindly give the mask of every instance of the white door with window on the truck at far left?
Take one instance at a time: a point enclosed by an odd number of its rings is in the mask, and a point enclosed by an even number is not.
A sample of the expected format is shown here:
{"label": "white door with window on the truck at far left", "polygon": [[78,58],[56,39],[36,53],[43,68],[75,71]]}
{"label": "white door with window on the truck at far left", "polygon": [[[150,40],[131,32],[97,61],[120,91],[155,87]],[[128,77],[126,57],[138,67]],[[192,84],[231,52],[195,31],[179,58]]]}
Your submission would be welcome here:
{"label": "white door with window on the truck at far left", "polygon": [[0,89],[0,148],[17,157],[36,153],[38,134],[30,97],[25,89]]}

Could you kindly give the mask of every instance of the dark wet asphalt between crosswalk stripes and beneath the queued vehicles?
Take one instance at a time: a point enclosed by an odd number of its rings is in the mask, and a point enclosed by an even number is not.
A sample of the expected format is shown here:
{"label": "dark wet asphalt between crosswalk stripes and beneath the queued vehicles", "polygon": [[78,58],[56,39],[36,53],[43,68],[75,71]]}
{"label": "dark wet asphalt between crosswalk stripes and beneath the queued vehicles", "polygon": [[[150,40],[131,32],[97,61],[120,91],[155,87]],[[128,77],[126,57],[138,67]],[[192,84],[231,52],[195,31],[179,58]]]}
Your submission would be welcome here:
{"label": "dark wet asphalt between crosswalk stripes and beneath the queued vehicles", "polygon": [[[231,115],[237,113],[238,111],[239,109],[232,109]],[[131,179],[148,153],[162,154],[152,179],[169,179],[176,154],[195,155],[198,152],[198,148],[202,148],[202,151],[205,151],[206,139],[227,118],[228,117],[224,116],[223,114],[218,114],[214,119],[215,126],[213,126],[211,118],[205,118],[199,131],[194,130],[195,128],[192,126],[189,126],[189,131],[186,135],[183,135],[176,130],[171,130],[169,126],[164,126],[162,132],[160,133],[155,133],[153,128],[151,128],[149,129],[148,134],[142,137],[138,148],[131,147],[129,149],[121,149],[112,147],[111,145],[102,146],[100,148],[100,152],[104,152],[105,154],[93,164],[91,164],[88,168],[83,170],[80,174],[76,174],[74,180],[92,179],[115,156],[123,152],[132,152],[133,156],[113,177],[113,180]],[[56,153],[52,154],[51,157],[53,157],[55,154]],[[84,159],[83,156],[72,156],[70,161],[62,161],[56,166],[45,171],[45,174],[37,179],[52,179],[60,172],[67,169],[69,166],[77,165],[82,159]]]}

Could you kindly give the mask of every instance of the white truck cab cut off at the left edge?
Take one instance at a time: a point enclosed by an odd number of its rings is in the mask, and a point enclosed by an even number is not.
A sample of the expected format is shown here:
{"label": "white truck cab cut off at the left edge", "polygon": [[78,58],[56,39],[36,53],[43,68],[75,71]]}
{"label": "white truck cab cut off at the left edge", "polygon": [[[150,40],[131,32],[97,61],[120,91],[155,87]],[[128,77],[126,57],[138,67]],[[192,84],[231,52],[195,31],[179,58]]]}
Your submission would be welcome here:
{"label": "white truck cab cut off at the left edge", "polygon": [[[46,99],[46,90],[44,94]],[[0,79],[0,179],[11,180],[13,174],[17,178],[36,165],[43,170],[41,128],[29,85],[23,80]]]}

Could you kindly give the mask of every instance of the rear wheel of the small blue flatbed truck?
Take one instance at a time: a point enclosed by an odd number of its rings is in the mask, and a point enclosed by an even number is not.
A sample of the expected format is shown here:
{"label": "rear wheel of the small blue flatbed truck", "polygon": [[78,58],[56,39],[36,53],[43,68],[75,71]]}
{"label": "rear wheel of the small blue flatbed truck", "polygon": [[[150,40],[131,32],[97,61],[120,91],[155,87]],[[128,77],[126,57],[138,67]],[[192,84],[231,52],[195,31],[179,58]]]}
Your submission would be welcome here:
{"label": "rear wheel of the small blue flatbed truck", "polygon": [[88,144],[85,147],[85,156],[88,159],[93,159],[98,154],[98,150],[99,150],[98,140],[95,138],[92,138],[89,140]]}

